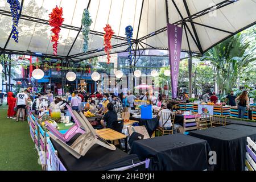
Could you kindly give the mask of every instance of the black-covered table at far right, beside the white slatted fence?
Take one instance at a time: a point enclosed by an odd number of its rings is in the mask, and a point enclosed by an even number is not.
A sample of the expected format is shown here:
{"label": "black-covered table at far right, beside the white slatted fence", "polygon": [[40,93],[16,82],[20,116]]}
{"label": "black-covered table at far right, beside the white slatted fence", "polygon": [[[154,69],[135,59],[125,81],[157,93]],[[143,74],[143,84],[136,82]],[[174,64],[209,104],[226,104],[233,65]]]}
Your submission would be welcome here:
{"label": "black-covered table at far right, beside the white slatted fence", "polygon": [[191,131],[189,135],[208,141],[212,151],[216,151],[217,164],[214,170],[245,169],[246,137],[256,139],[256,127],[228,125],[207,130]]}

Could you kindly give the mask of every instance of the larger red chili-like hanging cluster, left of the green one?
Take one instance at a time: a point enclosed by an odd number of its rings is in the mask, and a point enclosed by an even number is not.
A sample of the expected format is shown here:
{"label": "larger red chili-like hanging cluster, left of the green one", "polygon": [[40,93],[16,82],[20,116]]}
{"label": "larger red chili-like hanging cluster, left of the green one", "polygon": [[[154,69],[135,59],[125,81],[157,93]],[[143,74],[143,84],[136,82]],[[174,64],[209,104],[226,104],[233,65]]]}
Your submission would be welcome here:
{"label": "larger red chili-like hanging cluster, left of the green one", "polygon": [[49,25],[52,28],[52,42],[53,45],[53,55],[57,55],[57,46],[58,46],[58,40],[59,40],[59,33],[60,33],[60,26],[62,25],[64,18],[62,18],[63,10],[62,7],[55,7],[55,9],[52,10],[52,13],[49,14]]}

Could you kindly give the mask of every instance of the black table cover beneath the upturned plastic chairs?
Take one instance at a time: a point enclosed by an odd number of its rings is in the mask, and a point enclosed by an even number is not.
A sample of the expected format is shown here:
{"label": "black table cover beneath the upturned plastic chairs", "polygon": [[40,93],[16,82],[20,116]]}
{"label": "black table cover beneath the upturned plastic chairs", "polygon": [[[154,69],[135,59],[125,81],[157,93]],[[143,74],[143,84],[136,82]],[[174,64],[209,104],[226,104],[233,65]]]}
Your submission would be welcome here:
{"label": "black table cover beneath the upturned plastic chairs", "polygon": [[141,162],[137,155],[128,155],[118,148],[115,151],[108,150],[98,144],[94,144],[85,156],[77,159],[54,140],[51,139],[51,142],[68,171],[105,171]]}

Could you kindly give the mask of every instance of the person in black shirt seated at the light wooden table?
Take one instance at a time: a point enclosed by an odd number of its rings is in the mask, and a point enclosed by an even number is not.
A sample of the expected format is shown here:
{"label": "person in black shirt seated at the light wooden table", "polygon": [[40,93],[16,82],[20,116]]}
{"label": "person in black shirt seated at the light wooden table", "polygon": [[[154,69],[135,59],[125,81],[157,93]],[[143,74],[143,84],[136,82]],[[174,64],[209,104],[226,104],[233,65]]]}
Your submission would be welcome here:
{"label": "person in black shirt seated at the light wooden table", "polygon": [[103,127],[106,127],[107,129],[113,129],[114,130],[114,124],[117,122],[117,113],[114,111],[114,105],[109,103],[107,105],[108,112],[104,114],[104,116],[101,119],[101,125]]}

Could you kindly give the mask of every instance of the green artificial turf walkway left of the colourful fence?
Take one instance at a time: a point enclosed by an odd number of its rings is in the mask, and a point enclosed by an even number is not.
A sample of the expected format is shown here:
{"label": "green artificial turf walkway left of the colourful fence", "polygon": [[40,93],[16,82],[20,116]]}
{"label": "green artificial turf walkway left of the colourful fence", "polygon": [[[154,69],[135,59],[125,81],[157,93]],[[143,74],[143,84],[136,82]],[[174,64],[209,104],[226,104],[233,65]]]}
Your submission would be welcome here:
{"label": "green artificial turf walkway left of the colourful fence", "polygon": [[7,119],[7,106],[0,106],[0,170],[42,170],[38,157],[27,121]]}

